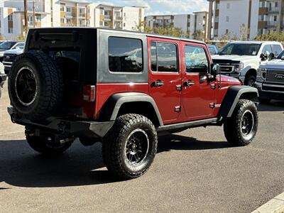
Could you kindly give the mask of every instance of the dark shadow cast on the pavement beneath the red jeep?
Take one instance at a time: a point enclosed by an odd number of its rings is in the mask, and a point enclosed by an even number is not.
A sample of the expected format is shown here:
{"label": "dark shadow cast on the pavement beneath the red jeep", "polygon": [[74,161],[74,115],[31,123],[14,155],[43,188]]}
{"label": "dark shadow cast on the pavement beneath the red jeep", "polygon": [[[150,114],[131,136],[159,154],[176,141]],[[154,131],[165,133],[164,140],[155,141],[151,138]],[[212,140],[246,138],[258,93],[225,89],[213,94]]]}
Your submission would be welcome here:
{"label": "dark shadow cast on the pavement beneath the red jeep", "polygon": [[[158,153],[227,147],[226,142],[171,135],[159,138]],[[101,152],[101,143],[84,147],[75,141],[63,155],[47,157],[35,153],[26,140],[0,140],[0,182],[18,187],[64,187],[120,181],[104,168]]]}

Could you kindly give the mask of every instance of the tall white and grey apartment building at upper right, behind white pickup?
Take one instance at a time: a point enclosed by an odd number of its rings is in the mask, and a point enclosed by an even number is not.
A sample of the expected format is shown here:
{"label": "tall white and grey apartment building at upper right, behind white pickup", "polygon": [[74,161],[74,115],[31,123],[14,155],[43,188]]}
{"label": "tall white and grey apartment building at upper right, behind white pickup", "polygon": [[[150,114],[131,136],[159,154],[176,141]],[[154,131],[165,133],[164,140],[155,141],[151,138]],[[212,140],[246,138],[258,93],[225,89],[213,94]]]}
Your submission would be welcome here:
{"label": "tall white and grey apartment building at upper right, behind white pickup", "polygon": [[248,39],[258,34],[283,29],[284,0],[207,0],[209,1],[209,37],[218,39],[224,34],[240,36],[241,26]]}

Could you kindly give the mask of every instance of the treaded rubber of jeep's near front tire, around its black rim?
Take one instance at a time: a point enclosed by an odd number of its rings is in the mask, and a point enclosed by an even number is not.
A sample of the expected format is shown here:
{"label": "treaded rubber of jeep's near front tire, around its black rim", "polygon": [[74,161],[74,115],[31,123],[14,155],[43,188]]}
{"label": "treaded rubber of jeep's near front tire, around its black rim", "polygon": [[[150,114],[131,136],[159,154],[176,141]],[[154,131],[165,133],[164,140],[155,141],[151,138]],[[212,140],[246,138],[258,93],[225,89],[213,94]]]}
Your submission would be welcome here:
{"label": "treaded rubber of jeep's near front tire, around its black rim", "polygon": [[256,131],[258,129],[258,114],[257,114],[257,108],[256,104],[254,104],[251,100],[247,99],[240,99],[238,104],[236,104],[236,108],[234,109],[234,113],[232,114],[231,118],[226,119],[224,122],[224,134],[226,137],[226,140],[231,143],[233,146],[246,146],[253,141],[253,137],[246,141],[241,136],[241,115],[246,109],[251,109],[256,116],[255,118],[255,124],[256,124]]}

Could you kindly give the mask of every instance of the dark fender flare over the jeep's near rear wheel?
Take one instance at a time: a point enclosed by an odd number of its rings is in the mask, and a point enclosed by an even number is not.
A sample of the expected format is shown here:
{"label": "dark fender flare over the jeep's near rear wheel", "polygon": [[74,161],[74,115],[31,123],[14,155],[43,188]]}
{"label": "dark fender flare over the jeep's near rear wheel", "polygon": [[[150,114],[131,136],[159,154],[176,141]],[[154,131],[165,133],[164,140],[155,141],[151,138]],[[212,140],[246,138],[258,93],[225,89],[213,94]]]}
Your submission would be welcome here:
{"label": "dark fender flare over the jeep's near rear wheel", "polygon": [[163,126],[160,111],[152,97],[142,92],[122,92],[111,95],[107,100],[102,117],[114,121],[122,114],[141,114],[150,119],[153,124]]}

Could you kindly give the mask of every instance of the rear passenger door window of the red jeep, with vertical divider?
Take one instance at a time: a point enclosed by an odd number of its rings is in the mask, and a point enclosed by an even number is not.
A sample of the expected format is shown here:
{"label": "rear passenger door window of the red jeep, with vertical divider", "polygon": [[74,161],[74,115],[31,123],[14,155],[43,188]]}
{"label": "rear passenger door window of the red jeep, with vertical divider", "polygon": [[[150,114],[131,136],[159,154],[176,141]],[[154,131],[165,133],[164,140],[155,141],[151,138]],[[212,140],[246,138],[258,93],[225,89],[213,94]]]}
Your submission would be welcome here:
{"label": "rear passenger door window of the red jeep, with vertical divider", "polygon": [[151,42],[151,70],[178,72],[177,45],[174,43]]}

